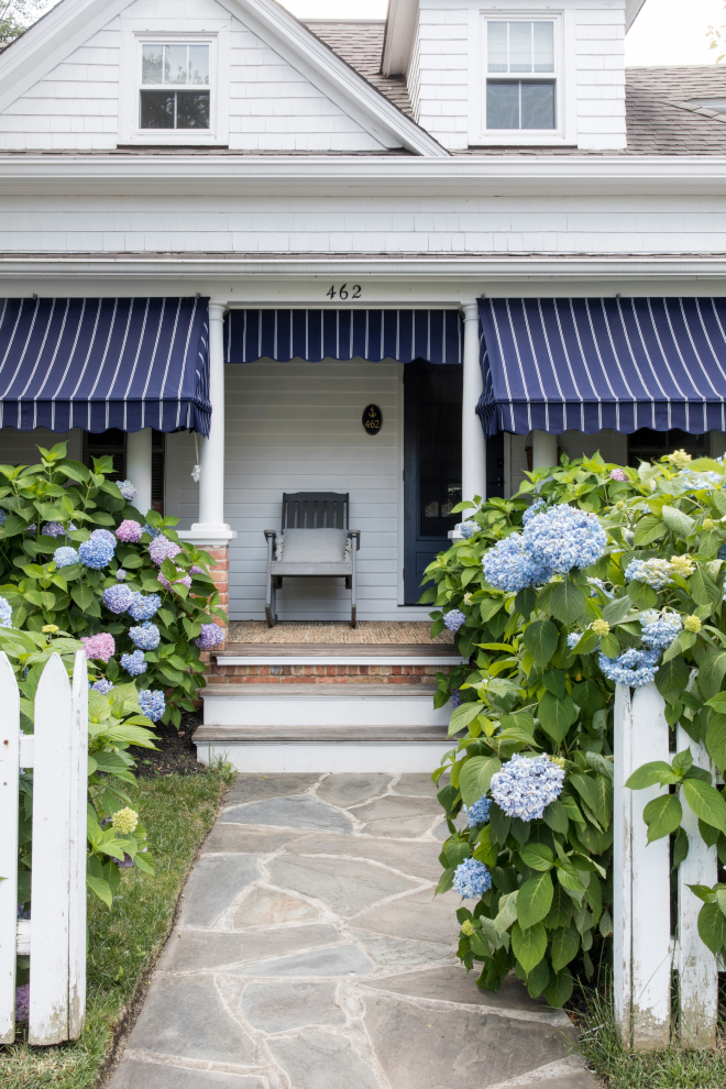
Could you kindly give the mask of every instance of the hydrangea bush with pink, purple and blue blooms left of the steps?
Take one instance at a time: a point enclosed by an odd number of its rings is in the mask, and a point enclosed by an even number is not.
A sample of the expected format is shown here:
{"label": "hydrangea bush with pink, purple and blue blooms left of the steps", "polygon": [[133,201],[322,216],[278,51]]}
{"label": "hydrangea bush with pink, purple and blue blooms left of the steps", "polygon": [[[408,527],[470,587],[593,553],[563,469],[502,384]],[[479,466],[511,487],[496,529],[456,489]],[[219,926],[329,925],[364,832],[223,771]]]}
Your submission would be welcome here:
{"label": "hydrangea bush with pink, purple and blue blooms left of the steps", "polygon": [[133,484],[107,479],[110,458],[90,470],[63,442],[38,450],[40,464],[0,465],[0,594],[12,624],[80,639],[96,691],[113,695],[134,678],[150,717],[178,726],[204,684],[200,651],[222,638],[211,558],[179,541],[177,519],[136,510]]}

